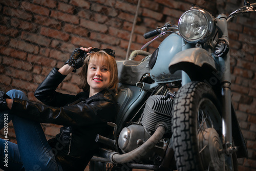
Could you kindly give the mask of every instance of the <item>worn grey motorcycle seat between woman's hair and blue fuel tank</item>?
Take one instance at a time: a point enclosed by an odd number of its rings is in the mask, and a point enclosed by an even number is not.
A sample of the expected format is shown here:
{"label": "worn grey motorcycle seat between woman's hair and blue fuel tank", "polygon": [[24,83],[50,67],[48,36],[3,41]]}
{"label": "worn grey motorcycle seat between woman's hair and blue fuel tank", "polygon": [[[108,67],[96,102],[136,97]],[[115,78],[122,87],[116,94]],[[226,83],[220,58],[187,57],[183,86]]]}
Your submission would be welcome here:
{"label": "worn grey motorcycle seat between woman's hair and blue fuel tank", "polygon": [[141,78],[150,73],[148,67],[148,60],[136,61],[136,60],[119,60],[116,61],[118,69],[119,83],[135,85],[141,80]]}

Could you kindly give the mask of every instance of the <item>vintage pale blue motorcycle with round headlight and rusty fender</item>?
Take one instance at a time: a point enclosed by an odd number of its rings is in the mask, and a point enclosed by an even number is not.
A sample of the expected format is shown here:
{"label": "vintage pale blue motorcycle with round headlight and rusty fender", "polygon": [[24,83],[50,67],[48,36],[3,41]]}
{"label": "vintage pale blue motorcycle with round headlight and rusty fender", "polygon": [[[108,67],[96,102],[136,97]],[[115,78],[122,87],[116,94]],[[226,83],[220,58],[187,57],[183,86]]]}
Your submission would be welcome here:
{"label": "vintage pale blue motorcycle with round headlight and rusty fender", "polygon": [[[101,148],[90,170],[237,170],[248,152],[231,103],[227,22],[252,11],[256,3],[245,1],[215,18],[193,6],[178,25],[145,33],[171,34],[153,54],[117,61],[118,115],[108,123],[113,135],[96,137]],[[146,57],[135,61],[137,54]]]}

